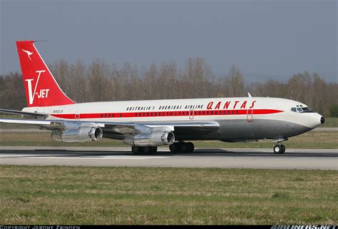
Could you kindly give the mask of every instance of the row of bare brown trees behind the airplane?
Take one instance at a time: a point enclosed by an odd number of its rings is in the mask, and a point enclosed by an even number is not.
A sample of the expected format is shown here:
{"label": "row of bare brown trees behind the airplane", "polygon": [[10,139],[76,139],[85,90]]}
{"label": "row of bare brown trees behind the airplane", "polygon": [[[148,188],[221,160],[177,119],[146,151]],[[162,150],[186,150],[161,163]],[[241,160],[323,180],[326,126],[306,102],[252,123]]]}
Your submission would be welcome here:
{"label": "row of bare brown trees behind the airplane", "polygon": [[[185,68],[176,63],[152,63],[141,68],[126,62],[116,64],[93,61],[86,66],[80,61],[69,65],[64,60],[50,66],[62,90],[76,102],[123,101],[163,98],[203,98],[270,96],[291,98],[307,104],[314,111],[329,115],[329,108],[338,104],[338,83],[327,83],[317,73],[307,71],[293,75],[287,83],[268,80],[245,87],[242,73],[230,66],[228,76],[215,78],[203,58],[188,58]],[[0,108],[20,110],[26,106],[24,83],[19,73],[0,76]]]}

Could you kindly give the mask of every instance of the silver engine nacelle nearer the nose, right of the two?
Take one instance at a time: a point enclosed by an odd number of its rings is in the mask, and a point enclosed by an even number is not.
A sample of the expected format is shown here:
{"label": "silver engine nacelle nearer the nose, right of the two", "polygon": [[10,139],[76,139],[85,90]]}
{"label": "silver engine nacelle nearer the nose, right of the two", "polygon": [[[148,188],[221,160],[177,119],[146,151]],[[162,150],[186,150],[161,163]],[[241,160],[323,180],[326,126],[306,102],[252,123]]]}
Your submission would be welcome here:
{"label": "silver engine nacelle nearer the nose, right of the two", "polygon": [[171,145],[175,141],[175,135],[171,131],[154,131],[150,133],[140,133],[135,136],[127,137],[124,143],[130,146],[162,146]]}

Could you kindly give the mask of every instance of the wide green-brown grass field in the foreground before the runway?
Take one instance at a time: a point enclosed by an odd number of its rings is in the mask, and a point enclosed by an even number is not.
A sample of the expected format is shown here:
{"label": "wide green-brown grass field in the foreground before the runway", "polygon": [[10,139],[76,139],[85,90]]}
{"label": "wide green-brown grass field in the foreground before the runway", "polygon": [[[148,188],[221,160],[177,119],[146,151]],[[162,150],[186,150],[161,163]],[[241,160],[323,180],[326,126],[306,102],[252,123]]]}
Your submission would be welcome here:
{"label": "wide green-brown grass field in the foreground before the runway", "polygon": [[4,224],[337,224],[337,171],[0,166]]}

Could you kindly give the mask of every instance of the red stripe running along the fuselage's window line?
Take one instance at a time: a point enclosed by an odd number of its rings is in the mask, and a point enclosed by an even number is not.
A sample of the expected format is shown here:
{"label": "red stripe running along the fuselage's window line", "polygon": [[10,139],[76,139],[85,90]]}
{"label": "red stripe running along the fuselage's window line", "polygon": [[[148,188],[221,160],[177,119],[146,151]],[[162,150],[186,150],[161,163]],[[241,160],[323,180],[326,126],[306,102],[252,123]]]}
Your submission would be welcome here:
{"label": "red stripe running along the fuselage's window line", "polygon": [[[255,109],[253,115],[280,113],[283,111],[273,109]],[[233,116],[247,115],[247,110],[208,110],[208,111],[151,111],[128,113],[81,113],[80,118],[135,118],[135,117],[168,117],[168,116]],[[74,119],[75,113],[51,114],[56,118]]]}

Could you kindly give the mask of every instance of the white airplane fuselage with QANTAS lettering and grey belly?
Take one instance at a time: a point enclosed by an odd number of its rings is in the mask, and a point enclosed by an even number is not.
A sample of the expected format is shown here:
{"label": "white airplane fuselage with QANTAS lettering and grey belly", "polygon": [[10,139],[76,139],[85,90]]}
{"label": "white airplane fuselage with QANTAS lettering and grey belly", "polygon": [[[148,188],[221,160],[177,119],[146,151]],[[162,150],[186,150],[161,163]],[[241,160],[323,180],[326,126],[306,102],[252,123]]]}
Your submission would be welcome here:
{"label": "white airplane fuselage with QANTAS lettering and grey belly", "polygon": [[[321,125],[318,113],[291,111],[303,103],[285,98],[198,98],[153,101],[76,103],[66,106],[24,108],[23,111],[48,113],[47,120],[114,123],[170,123],[216,121],[217,133],[197,139],[287,138]],[[190,133],[181,136],[190,137]]]}

